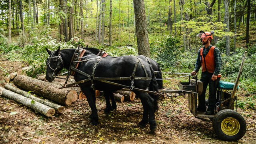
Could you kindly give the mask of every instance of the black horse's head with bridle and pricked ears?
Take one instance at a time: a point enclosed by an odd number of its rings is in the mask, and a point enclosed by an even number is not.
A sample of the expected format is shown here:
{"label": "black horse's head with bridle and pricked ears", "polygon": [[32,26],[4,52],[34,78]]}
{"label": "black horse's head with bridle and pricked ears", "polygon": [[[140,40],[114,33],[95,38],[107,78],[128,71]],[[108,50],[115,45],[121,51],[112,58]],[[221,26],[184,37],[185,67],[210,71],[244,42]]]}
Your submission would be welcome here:
{"label": "black horse's head with bridle and pricked ears", "polygon": [[46,48],[46,51],[50,56],[46,60],[47,68],[46,68],[45,78],[49,82],[52,82],[56,74],[58,74],[58,72],[62,70],[62,68],[64,67],[64,64],[60,55],[60,47],[58,48],[58,50],[54,50],[53,52],[48,50],[47,48]]}

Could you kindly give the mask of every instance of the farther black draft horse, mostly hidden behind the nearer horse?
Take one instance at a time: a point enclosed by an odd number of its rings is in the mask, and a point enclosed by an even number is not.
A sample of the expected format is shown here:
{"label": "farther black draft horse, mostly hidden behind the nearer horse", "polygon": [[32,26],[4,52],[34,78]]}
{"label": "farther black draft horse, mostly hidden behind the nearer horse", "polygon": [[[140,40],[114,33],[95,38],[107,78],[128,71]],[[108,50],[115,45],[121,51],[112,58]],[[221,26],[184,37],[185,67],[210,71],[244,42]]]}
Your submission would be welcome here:
{"label": "farther black draft horse, mostly hidden behind the nearer horse", "polygon": [[[97,48],[88,48],[88,46],[86,46],[86,48],[84,48],[84,49],[93,54],[96,54],[98,56],[108,56],[108,57],[110,56],[110,55],[106,54],[106,52],[99,50]],[[143,55],[136,56],[136,57],[140,58],[141,60],[144,60],[145,62],[148,62],[152,66],[153,70],[155,71],[155,76],[158,79],[157,80],[158,90],[162,89],[163,88],[162,73],[161,73],[160,66],[158,65],[158,63],[146,56],[143,56]],[[154,110],[158,110],[157,101],[158,101],[159,96],[155,96],[152,94],[149,94],[149,95],[154,99]],[[105,98],[106,99],[106,109],[104,110],[105,113],[109,113],[110,111],[116,109],[116,101],[114,99],[114,96],[110,97],[110,98],[111,98],[112,106],[110,104],[110,99]]]}

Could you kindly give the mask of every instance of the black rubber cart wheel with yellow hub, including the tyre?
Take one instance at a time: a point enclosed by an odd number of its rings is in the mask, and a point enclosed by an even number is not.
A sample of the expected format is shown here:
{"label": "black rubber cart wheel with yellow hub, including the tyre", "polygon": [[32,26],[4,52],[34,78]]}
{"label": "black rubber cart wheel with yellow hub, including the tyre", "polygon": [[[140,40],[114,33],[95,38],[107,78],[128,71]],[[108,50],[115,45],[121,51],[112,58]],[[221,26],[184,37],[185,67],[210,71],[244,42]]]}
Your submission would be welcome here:
{"label": "black rubber cart wheel with yellow hub, including the tyre", "polygon": [[216,135],[225,141],[237,141],[246,132],[246,122],[238,112],[230,109],[218,112],[212,121]]}

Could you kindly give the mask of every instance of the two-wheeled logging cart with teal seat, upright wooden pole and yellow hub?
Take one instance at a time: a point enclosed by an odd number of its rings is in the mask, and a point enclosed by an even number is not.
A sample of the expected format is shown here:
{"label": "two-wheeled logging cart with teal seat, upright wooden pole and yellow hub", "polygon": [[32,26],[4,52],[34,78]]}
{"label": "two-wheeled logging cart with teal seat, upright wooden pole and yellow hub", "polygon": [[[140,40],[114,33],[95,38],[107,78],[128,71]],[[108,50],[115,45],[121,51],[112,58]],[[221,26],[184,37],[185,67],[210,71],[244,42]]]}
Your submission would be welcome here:
{"label": "two-wheeled logging cart with teal seat, upright wooden pole and yellow hub", "polygon": [[[197,94],[202,90],[202,83],[197,76],[189,76],[188,82],[179,82],[180,90],[169,90],[169,92],[187,93],[188,108],[190,112],[201,120],[212,121],[214,132],[218,138],[225,141],[237,141],[246,132],[244,118],[234,110],[236,90],[242,72],[246,52],[238,72],[235,83],[220,81],[217,86],[217,103],[214,108],[214,115],[206,115],[205,112],[197,110]],[[160,90],[161,91],[161,90]],[[162,92],[168,92],[163,90]],[[206,100],[206,105],[208,104]]]}

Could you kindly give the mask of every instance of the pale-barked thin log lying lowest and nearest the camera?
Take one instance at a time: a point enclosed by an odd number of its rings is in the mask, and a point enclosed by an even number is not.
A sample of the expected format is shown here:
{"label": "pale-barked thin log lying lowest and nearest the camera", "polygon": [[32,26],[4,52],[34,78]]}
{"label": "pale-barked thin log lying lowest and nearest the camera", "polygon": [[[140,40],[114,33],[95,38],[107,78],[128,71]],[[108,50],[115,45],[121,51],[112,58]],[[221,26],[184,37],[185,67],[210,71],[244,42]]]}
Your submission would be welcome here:
{"label": "pale-barked thin log lying lowest and nearest the camera", "polygon": [[21,103],[24,106],[35,110],[35,112],[39,112],[40,114],[43,114],[45,116],[50,117],[55,114],[55,110],[53,108],[41,104],[40,102],[36,102],[30,98],[26,98],[20,94],[16,94],[15,92],[12,92],[10,90],[6,90],[5,88],[0,87],[0,95],[6,98],[10,98],[15,102]]}

